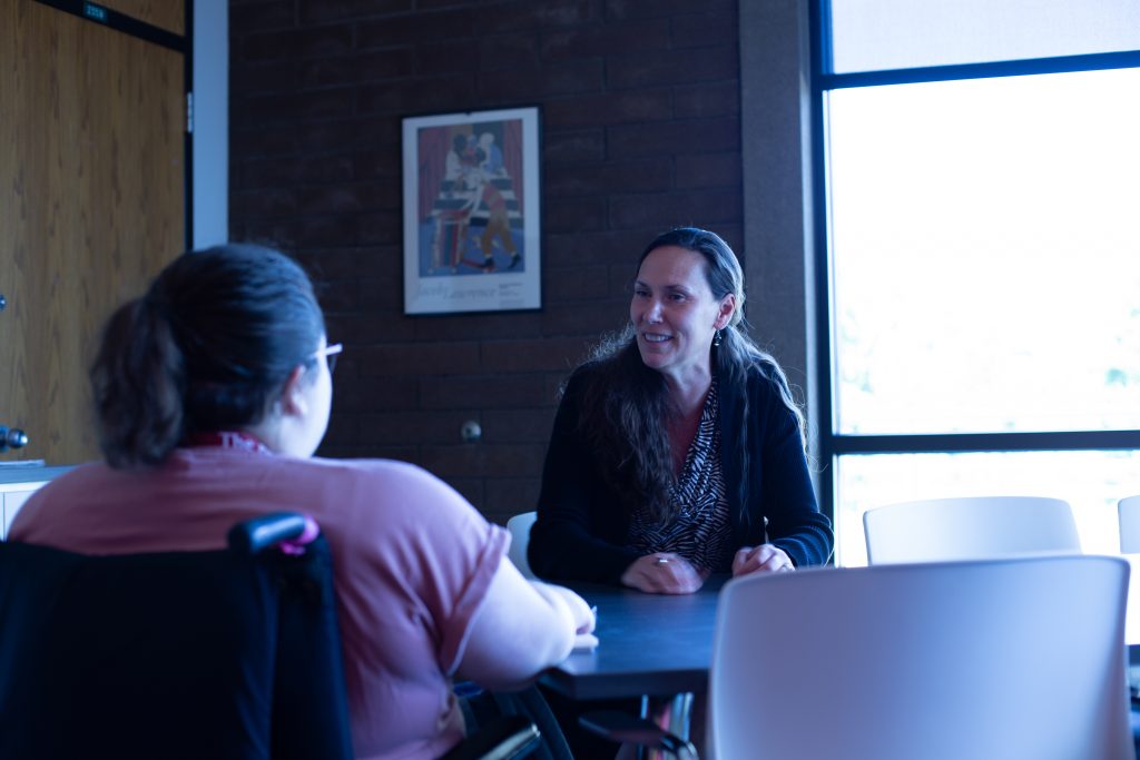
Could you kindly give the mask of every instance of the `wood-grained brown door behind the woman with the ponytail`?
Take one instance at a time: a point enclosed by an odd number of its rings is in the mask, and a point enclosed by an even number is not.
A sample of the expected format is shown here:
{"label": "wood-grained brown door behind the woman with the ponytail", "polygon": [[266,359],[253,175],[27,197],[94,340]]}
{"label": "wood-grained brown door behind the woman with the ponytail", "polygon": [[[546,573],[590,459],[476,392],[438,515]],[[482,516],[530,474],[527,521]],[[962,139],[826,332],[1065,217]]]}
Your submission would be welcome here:
{"label": "wood-grained brown door behind the woman with the ponytail", "polygon": [[103,324],[184,247],[184,65],[0,0],[0,425],[31,439],[0,459],[98,456],[87,373]]}

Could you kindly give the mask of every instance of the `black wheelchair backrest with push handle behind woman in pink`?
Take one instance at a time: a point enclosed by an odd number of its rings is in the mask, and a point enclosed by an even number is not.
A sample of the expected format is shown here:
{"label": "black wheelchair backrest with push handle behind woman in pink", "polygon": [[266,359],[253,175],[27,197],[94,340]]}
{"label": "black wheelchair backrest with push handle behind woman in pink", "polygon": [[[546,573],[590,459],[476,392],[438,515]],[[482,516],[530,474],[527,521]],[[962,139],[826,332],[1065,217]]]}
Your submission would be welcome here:
{"label": "black wheelchair backrest with push handle behind woman in pink", "polygon": [[[286,530],[277,530],[284,520]],[[0,757],[351,758],[332,559],[0,544]]]}

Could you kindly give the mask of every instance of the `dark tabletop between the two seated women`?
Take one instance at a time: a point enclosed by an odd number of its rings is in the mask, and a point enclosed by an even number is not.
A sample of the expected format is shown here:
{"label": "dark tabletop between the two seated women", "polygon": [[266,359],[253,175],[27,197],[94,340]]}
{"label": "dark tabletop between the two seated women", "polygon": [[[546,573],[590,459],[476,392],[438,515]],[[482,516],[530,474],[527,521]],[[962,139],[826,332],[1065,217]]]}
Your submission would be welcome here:
{"label": "dark tabletop between the two seated women", "polygon": [[703,694],[718,593],[726,581],[714,577],[697,594],[682,596],[571,585],[597,606],[600,644],[571,654],[543,683],[572,700]]}

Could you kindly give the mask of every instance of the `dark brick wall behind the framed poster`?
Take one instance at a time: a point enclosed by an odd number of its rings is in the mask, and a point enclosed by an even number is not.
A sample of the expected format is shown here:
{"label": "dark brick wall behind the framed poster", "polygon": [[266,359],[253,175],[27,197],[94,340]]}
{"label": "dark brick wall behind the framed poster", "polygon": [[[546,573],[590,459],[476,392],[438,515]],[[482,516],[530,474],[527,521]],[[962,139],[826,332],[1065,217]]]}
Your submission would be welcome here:
{"label": "dark brick wall behind the framed poster", "polygon": [[[230,236],[295,255],[345,343],[320,453],[535,507],[559,385],[627,319],[641,248],[698,224],[742,253],[736,27],[735,0],[230,1]],[[530,105],[543,309],[405,317],[400,120]]]}

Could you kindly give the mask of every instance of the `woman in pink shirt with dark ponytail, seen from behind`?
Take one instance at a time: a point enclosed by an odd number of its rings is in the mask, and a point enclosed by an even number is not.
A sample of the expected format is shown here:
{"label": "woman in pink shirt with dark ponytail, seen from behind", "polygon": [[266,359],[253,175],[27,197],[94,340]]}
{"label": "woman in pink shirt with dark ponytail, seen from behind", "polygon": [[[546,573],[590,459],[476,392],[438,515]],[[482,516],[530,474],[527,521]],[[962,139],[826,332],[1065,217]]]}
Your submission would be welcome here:
{"label": "woman in pink shirt with dark ponytail, seen from behind", "polygon": [[38,491],[14,540],[89,554],[220,548],[233,523],[320,524],[358,758],[437,758],[464,734],[450,684],[527,685],[593,639],[569,589],[528,581],[510,536],[409,464],[314,458],[332,401],[308,277],[228,245],[172,262],[111,318],[91,370],[104,460]]}

